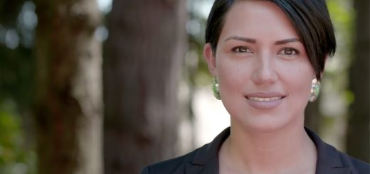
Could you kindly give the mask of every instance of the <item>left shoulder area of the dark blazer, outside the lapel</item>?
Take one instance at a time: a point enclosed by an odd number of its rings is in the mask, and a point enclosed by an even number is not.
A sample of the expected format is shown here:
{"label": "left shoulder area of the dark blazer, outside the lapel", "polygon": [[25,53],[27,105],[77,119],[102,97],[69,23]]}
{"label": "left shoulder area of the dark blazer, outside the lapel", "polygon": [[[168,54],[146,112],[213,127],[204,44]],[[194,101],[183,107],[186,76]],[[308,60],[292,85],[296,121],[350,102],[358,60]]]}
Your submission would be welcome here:
{"label": "left shoulder area of the dark blazer, outside the lapel", "polygon": [[199,149],[200,148],[197,148],[196,150],[191,151],[190,153],[186,153],[184,156],[179,156],[177,158],[172,158],[166,161],[148,165],[142,170],[142,174],[144,173],[185,173],[186,165],[190,164],[194,160],[194,157],[196,156],[196,153],[199,151]]}

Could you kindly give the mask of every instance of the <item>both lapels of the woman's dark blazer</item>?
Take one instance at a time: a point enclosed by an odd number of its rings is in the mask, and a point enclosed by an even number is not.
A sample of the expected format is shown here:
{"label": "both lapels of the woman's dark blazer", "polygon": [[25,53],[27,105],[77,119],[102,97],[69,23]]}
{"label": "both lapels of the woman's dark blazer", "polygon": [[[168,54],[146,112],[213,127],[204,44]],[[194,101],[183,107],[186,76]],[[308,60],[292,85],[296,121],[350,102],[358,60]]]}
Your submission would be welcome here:
{"label": "both lapels of the woman's dark blazer", "polygon": [[[339,151],[317,136],[314,131],[305,127],[305,131],[317,148],[316,174],[349,174],[351,170],[344,166]],[[218,173],[218,151],[223,141],[230,135],[230,127],[226,128],[211,143],[199,148],[192,163],[186,165],[186,173]]]}

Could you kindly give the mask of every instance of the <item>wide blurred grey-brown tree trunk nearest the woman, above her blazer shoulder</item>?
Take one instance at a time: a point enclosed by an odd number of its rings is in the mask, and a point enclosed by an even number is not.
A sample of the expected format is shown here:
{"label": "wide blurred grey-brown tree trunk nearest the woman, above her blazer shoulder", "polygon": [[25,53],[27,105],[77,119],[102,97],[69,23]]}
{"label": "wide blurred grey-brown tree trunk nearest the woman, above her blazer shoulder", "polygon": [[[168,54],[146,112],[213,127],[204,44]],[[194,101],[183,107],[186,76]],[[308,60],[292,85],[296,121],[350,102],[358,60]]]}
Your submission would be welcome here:
{"label": "wide blurred grey-brown tree trunk nearest the woman, above her blazer shoulder", "polygon": [[105,173],[174,156],[186,1],[113,1],[103,63]]}

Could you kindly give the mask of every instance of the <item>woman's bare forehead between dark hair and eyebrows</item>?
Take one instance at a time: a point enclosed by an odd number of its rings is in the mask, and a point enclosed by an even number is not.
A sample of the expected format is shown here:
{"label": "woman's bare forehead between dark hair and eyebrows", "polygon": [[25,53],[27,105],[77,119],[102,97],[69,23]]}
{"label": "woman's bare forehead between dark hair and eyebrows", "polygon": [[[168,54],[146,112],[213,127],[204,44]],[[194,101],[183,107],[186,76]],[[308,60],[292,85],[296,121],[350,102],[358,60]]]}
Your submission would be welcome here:
{"label": "woman's bare forehead between dark hair and eyebrows", "polygon": [[290,19],[271,1],[236,1],[226,14],[220,39],[229,35],[298,38]]}

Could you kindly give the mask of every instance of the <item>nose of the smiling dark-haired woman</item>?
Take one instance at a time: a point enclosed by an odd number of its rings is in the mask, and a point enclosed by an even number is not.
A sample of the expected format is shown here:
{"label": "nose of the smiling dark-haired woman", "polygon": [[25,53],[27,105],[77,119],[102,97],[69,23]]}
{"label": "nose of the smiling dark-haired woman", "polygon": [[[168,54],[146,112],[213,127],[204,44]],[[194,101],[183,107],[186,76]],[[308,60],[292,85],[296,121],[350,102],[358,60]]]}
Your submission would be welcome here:
{"label": "nose of the smiling dark-haired woman", "polygon": [[254,67],[252,80],[256,85],[272,85],[276,82],[277,73],[272,58],[258,58]]}

